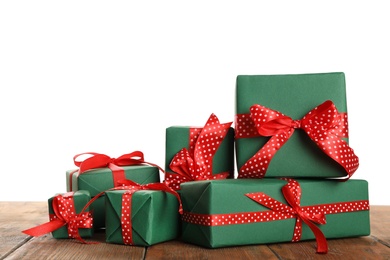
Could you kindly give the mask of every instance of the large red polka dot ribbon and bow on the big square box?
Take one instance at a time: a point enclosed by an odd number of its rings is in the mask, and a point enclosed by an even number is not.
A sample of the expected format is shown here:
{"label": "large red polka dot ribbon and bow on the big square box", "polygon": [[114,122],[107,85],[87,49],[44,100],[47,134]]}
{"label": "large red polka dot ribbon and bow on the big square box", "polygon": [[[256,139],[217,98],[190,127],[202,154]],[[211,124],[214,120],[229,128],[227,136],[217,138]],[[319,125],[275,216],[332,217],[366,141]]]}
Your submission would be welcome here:
{"label": "large red polka dot ribbon and bow on the big square box", "polygon": [[347,114],[339,113],[327,100],[301,120],[261,105],[253,105],[250,114],[236,116],[236,138],[270,136],[268,142],[239,170],[237,178],[263,178],[276,152],[287,142],[295,129],[302,129],[330,158],[340,164],[349,179],[359,167],[359,159],[348,143]]}

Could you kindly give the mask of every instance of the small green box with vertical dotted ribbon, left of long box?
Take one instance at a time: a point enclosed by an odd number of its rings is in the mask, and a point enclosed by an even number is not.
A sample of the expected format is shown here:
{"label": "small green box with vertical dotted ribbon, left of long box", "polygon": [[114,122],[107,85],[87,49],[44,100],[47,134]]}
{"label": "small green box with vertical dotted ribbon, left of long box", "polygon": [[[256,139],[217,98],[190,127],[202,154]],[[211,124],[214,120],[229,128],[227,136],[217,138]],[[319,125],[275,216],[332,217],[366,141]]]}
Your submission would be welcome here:
{"label": "small green box with vertical dotted ribbon, left of long box", "polygon": [[[106,192],[107,243],[150,246],[178,237],[179,202],[174,195],[164,191],[140,190],[129,199],[124,197],[127,192]],[[131,214],[131,218],[122,219],[126,214]],[[132,241],[129,241],[130,238]]]}

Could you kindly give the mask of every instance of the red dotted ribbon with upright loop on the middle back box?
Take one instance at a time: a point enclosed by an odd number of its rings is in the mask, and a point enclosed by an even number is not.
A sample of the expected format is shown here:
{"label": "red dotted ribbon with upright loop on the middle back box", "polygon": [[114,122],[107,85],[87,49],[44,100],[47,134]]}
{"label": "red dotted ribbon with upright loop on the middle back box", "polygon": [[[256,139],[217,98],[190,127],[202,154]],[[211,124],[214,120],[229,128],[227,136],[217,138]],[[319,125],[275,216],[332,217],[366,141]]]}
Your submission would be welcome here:
{"label": "red dotted ribbon with upright loop on the middle back box", "polygon": [[212,174],[213,157],[233,122],[220,124],[211,114],[203,128],[190,128],[189,150],[181,149],[169,167],[174,173],[165,173],[165,182],[174,190],[187,181],[226,179],[229,172]]}

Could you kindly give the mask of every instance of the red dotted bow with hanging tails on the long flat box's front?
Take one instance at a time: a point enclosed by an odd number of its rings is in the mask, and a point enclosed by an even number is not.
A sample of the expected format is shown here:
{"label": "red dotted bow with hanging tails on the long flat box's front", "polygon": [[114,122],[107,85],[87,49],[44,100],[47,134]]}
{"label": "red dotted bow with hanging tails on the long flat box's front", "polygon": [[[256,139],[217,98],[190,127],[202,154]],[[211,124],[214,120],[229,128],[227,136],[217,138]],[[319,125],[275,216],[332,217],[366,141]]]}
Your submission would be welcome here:
{"label": "red dotted bow with hanging tails on the long flat box's front", "polygon": [[287,203],[285,205],[263,192],[246,194],[252,200],[260,203],[261,205],[286,215],[292,214],[296,218],[294,234],[292,242],[297,242],[301,239],[302,234],[302,221],[309,226],[317,241],[317,253],[327,253],[328,244],[322,231],[315,224],[326,224],[324,213],[309,213],[300,206],[301,201],[301,187],[299,183],[292,179],[286,179],[288,183],[283,186],[282,193]]}

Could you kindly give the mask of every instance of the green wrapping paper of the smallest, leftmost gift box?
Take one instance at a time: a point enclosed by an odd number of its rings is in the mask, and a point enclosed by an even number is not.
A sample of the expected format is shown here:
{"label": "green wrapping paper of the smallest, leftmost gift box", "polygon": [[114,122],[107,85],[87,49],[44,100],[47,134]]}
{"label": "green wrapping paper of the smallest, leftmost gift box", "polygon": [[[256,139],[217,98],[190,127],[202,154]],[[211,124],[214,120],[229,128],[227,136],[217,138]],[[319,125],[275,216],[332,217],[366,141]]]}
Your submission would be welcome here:
{"label": "green wrapping paper of the smallest, leftmost gift box", "polygon": [[[81,210],[84,208],[84,206],[91,199],[90,193],[86,190],[75,191],[72,197],[73,197],[73,202],[74,202],[76,214],[79,214],[81,212]],[[52,206],[53,199],[54,199],[54,197],[51,197],[50,199],[48,199],[48,208],[49,208],[50,216],[54,215],[54,210],[53,210],[53,206]],[[84,212],[88,212],[91,210],[92,210],[92,207],[87,207]],[[52,233],[54,238],[58,238],[58,239],[59,238],[69,238],[67,226],[63,226],[57,230],[54,230],[51,233]],[[93,228],[80,228],[79,235],[82,238],[92,237]]]}

